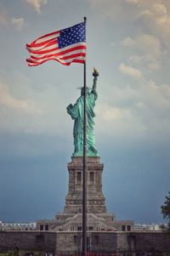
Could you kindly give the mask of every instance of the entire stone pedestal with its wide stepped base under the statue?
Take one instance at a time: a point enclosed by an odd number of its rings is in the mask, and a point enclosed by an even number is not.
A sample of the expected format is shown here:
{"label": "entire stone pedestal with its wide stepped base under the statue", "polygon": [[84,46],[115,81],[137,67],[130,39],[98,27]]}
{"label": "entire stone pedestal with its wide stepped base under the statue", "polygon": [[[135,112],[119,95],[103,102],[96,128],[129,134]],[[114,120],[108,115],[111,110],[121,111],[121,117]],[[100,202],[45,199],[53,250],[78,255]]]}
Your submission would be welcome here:
{"label": "entire stone pedestal with its wide stepped base under the statue", "polygon": [[[99,160],[99,156],[87,157],[87,230],[133,230],[132,221],[117,221],[115,214],[106,210],[105,196],[102,192],[104,165]],[[72,156],[67,168],[69,189],[65,197],[64,213],[56,213],[55,219],[50,221],[37,221],[39,230],[82,231],[82,156]]]}

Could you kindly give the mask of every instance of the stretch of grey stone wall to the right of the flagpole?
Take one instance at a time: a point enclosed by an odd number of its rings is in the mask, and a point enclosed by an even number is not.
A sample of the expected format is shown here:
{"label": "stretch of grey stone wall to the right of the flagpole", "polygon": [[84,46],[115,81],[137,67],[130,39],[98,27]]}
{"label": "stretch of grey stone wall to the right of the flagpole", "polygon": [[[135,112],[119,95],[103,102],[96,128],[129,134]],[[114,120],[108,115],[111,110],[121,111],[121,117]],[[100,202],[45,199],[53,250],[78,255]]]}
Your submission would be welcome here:
{"label": "stretch of grey stone wall to the right of the flagpole", "polygon": [[[161,231],[93,232],[91,249],[96,253],[116,252],[168,252],[170,234]],[[95,237],[95,239],[94,239]],[[98,237],[98,238],[97,238]],[[98,240],[98,242],[97,242]],[[96,242],[97,243],[96,243]]]}

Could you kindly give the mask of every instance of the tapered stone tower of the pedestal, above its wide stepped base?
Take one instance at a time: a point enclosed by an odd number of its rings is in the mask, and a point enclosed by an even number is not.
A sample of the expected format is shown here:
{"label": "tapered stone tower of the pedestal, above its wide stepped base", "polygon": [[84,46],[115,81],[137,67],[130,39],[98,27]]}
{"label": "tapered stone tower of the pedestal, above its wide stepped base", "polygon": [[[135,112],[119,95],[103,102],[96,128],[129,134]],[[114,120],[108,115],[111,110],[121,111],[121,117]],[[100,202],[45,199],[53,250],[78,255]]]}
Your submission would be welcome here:
{"label": "tapered stone tower of the pedestal, above its wide stepped base", "polygon": [[[68,163],[69,191],[65,198],[64,213],[82,213],[82,157],[72,156]],[[106,213],[105,196],[102,192],[104,165],[99,156],[87,157],[87,212]]]}

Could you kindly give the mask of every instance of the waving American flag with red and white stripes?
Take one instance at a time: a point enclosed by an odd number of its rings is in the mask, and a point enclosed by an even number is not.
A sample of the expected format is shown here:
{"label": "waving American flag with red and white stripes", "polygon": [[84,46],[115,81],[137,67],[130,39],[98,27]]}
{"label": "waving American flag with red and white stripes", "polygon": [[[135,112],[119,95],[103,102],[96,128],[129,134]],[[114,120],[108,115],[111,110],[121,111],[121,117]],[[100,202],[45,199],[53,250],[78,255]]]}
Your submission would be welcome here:
{"label": "waving American flag with red and white stripes", "polygon": [[37,40],[27,43],[26,48],[30,52],[30,58],[26,60],[30,66],[40,65],[48,60],[56,60],[63,65],[70,65],[71,62],[84,63],[85,22],[38,37]]}

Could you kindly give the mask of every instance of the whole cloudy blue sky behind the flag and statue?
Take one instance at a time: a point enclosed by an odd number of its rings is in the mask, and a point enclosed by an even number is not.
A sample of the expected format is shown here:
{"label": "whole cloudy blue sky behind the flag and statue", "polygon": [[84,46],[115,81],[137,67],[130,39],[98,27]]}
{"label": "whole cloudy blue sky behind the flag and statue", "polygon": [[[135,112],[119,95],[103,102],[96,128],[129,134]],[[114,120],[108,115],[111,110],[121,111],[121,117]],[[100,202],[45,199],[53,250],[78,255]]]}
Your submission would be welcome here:
{"label": "whole cloudy blue sky behind the flag and statue", "polygon": [[83,65],[28,67],[26,43],[87,16],[96,147],[116,219],[162,222],[170,191],[169,0],[0,0],[0,219],[53,219],[68,190]]}

